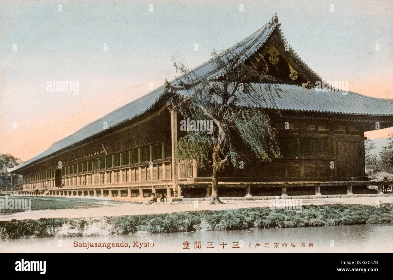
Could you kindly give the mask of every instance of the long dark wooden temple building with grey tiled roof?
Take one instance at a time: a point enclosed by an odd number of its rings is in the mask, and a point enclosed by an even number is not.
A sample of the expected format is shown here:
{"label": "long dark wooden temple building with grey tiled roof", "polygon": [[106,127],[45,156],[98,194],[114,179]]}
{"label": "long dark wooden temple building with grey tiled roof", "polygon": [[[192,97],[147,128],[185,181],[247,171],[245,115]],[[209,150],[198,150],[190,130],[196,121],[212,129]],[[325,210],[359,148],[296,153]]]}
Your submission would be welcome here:
{"label": "long dark wooden temple building with grey tiled roof", "polygon": [[[267,74],[279,81],[260,84],[254,93],[261,97],[259,102],[241,92],[237,97],[245,108],[279,112],[271,120],[282,157],[222,174],[220,197],[352,195],[370,185],[365,176],[364,132],[393,126],[393,100],[337,91],[334,85],[316,90],[314,85],[323,79],[288,45],[277,16],[227,51],[242,53],[246,63],[263,57],[269,65]],[[204,79],[224,75],[224,68],[213,67],[212,60],[192,71]],[[177,141],[184,134],[182,117],[167,101],[176,94],[187,95],[187,89],[172,86],[176,81],[9,169],[23,175],[23,190],[18,193],[34,194],[39,189],[53,196],[142,197],[154,192],[168,198],[204,197],[211,185],[209,170],[198,168],[193,159],[175,157]],[[267,93],[274,101],[263,98]]]}

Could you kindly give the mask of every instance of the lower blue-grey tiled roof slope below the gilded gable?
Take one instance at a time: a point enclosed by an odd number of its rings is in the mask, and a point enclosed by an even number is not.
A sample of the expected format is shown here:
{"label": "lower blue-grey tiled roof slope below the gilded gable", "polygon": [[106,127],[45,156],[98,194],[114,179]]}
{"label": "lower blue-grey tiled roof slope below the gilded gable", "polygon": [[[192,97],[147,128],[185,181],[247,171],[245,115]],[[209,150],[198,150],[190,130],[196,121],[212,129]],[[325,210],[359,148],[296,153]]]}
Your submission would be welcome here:
{"label": "lower blue-grey tiled roof slope below the gilded gable", "polygon": [[[235,93],[239,106],[344,115],[393,116],[393,100],[390,99],[368,97],[354,92],[318,92],[290,84],[252,83],[251,86],[253,90],[249,95],[241,91]],[[191,90],[178,90],[177,93],[183,96],[192,94]]]}

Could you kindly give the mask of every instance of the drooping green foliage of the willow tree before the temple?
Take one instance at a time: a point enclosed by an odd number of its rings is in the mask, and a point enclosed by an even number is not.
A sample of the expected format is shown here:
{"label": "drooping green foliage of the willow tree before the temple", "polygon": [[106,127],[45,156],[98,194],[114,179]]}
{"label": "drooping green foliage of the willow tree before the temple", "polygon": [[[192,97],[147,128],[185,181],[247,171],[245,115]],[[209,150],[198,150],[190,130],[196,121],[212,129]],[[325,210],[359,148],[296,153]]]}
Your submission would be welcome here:
{"label": "drooping green foliage of the willow tree before the temple", "polygon": [[[246,154],[254,154],[264,163],[280,157],[275,129],[270,125],[266,112],[244,108],[239,102],[243,96],[258,104],[270,98],[259,82],[275,82],[266,75],[268,64],[263,57],[255,57],[251,64],[242,61],[242,53],[212,53],[212,65],[223,69],[222,79],[211,80],[196,77],[182,61],[174,61],[181,74],[178,84],[187,89],[183,96],[175,95],[171,104],[184,119],[213,121],[213,134],[206,131],[188,131],[179,141],[176,156],[179,159],[195,159],[202,167],[213,169],[213,176],[226,165],[239,167]],[[261,97],[258,92],[266,92]],[[273,102],[274,103],[274,102]]]}

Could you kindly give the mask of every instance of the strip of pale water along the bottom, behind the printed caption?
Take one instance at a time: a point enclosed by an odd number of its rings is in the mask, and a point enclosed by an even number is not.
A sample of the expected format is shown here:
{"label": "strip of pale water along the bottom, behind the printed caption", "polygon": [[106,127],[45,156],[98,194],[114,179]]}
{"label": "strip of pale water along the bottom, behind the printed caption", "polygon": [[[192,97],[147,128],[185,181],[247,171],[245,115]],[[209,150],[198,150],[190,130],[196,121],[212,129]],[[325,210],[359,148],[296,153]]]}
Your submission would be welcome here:
{"label": "strip of pale water along the bottom, behind the printed caption", "polygon": [[[8,241],[1,240],[0,252],[392,253],[392,232],[393,225],[387,224],[264,230],[256,229],[248,231],[200,231],[162,234],[146,233],[122,236],[32,238]],[[121,244],[121,242],[124,242],[128,243],[129,247],[116,247],[116,244],[114,245],[115,247],[112,247],[110,249],[106,247],[90,247],[90,244],[89,248],[74,247],[75,244],[79,245],[79,243],[86,243],[87,245],[88,242],[119,243],[119,245]],[[197,243],[195,244],[195,242]],[[200,242],[201,248],[195,249],[195,245],[198,245],[198,242]],[[141,248],[139,248],[141,243],[143,245]],[[154,245],[151,246],[151,243],[153,243]],[[257,245],[257,243],[260,245],[260,247]],[[269,243],[269,245],[265,243]],[[276,244],[276,247],[275,243],[278,243]],[[294,243],[295,246],[291,247],[291,243]],[[304,243],[304,247],[301,246],[302,243]],[[312,247],[310,247],[310,243],[312,243]],[[183,249],[186,247],[189,247],[190,249]]]}

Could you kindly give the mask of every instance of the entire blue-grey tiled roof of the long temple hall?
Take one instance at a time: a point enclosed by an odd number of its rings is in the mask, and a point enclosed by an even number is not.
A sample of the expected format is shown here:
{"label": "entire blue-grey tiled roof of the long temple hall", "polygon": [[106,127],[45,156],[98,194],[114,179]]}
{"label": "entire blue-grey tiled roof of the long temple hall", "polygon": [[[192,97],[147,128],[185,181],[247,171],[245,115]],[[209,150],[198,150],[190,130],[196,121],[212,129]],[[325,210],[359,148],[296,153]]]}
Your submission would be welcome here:
{"label": "entire blue-grey tiled roof of the long temple hall", "polygon": [[[221,57],[221,60],[225,61],[225,53],[241,53],[242,60],[246,60],[248,57],[256,53],[261,49],[270,35],[279,28],[277,21],[271,20],[268,24],[264,25],[252,35],[248,36],[235,46],[227,49]],[[281,40],[286,43],[281,30],[279,31]],[[289,49],[291,57],[296,60],[303,68],[307,69],[309,73],[318,77],[292,50]],[[214,60],[209,60],[204,64],[196,67],[192,70],[196,80],[199,79],[215,79],[220,77],[223,73],[223,69],[217,69]],[[179,77],[171,81],[171,83],[183,80],[183,77]],[[321,80],[321,79],[320,79]],[[189,82],[185,81],[184,82]],[[267,100],[267,91],[272,92],[274,101]],[[119,109],[105,115],[101,119],[94,121],[77,132],[53,143],[50,148],[39,155],[29,159],[25,163],[18,165],[17,167],[11,168],[8,171],[12,172],[22,167],[34,163],[46,156],[50,156],[64,148],[75,145],[86,138],[92,137],[96,134],[103,132],[103,122],[108,124],[108,128],[115,127],[125,121],[134,119],[147,112],[151,109],[157,101],[163,96],[164,88],[161,86],[150,93],[147,93],[143,97],[132,101]],[[178,94],[187,95],[186,90],[178,91]],[[391,103],[389,104],[388,99],[377,99],[372,97],[365,97],[356,93],[348,93],[342,95],[338,92],[315,92],[314,90],[304,90],[303,88],[295,85],[287,84],[261,84],[261,89],[255,91],[255,97],[248,98],[245,95],[239,94],[239,105],[241,106],[255,106],[259,108],[278,108],[281,110],[297,110],[307,112],[331,112],[331,113],[342,113],[342,114],[355,114],[355,115],[392,115],[393,109]],[[256,97],[261,97],[256,99]],[[265,98],[266,97],[266,98]],[[390,101],[393,102],[393,101]],[[275,103],[275,104],[274,104]]]}

